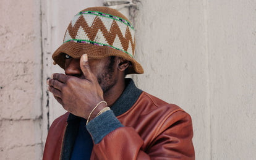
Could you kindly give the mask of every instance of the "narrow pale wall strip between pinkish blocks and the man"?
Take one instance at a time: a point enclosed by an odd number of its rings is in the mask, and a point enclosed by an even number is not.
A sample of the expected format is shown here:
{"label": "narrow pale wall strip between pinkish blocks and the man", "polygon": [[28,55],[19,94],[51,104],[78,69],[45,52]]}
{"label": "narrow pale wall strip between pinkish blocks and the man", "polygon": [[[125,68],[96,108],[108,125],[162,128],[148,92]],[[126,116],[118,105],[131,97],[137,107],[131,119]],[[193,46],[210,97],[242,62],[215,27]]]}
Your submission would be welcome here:
{"label": "narrow pale wall strip between pinkish blocks and the man", "polygon": [[48,94],[46,79],[53,73],[64,73],[58,65],[53,65],[52,54],[62,44],[64,34],[70,20],[77,12],[87,7],[103,6],[103,0],[45,0],[41,1],[42,11],[42,47],[43,47],[43,144],[45,144],[48,128],[54,119],[66,111]]}

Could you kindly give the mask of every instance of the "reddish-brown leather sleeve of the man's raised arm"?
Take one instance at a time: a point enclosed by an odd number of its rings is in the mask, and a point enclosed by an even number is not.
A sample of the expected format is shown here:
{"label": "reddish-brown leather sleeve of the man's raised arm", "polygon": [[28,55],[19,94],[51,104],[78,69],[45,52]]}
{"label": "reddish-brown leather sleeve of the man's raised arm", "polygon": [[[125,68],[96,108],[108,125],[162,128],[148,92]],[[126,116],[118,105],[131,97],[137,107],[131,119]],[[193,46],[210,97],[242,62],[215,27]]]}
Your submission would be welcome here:
{"label": "reddish-brown leather sleeve of the man's raised arm", "polygon": [[93,146],[91,159],[195,159],[189,114],[172,112],[158,125],[147,145],[134,128],[117,128]]}

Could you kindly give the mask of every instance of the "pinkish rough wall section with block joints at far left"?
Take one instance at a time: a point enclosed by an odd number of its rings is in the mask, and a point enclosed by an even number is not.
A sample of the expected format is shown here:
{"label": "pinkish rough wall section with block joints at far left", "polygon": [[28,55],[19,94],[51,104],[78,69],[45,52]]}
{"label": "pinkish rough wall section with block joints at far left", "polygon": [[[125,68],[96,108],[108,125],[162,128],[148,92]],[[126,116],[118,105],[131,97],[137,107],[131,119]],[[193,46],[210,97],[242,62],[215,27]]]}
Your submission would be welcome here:
{"label": "pinkish rough wall section with block joints at far left", "polygon": [[1,1],[0,159],[41,159],[40,1]]}

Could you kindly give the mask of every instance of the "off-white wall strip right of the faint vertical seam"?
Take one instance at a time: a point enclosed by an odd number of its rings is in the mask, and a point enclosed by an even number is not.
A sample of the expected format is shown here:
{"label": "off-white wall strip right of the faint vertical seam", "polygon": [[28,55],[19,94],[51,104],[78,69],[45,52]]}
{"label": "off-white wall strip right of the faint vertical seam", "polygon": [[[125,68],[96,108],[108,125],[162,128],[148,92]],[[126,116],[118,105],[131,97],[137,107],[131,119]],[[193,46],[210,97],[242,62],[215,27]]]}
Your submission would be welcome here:
{"label": "off-white wall strip right of the faint vertical seam", "polygon": [[211,158],[256,157],[256,1],[208,1]]}

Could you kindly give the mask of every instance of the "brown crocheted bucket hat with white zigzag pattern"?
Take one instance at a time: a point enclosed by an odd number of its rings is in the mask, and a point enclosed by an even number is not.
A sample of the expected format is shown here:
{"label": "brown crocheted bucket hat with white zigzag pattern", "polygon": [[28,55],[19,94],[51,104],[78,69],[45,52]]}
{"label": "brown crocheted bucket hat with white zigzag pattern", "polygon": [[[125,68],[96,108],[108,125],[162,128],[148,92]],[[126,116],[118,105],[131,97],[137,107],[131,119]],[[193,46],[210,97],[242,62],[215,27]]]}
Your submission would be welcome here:
{"label": "brown crocheted bucket hat with white zigzag pattern", "polygon": [[108,7],[90,7],[80,11],[69,23],[63,44],[53,53],[54,64],[65,67],[65,54],[79,59],[123,57],[132,62],[127,74],[143,74],[134,59],[135,32],[132,23],[120,12]]}

